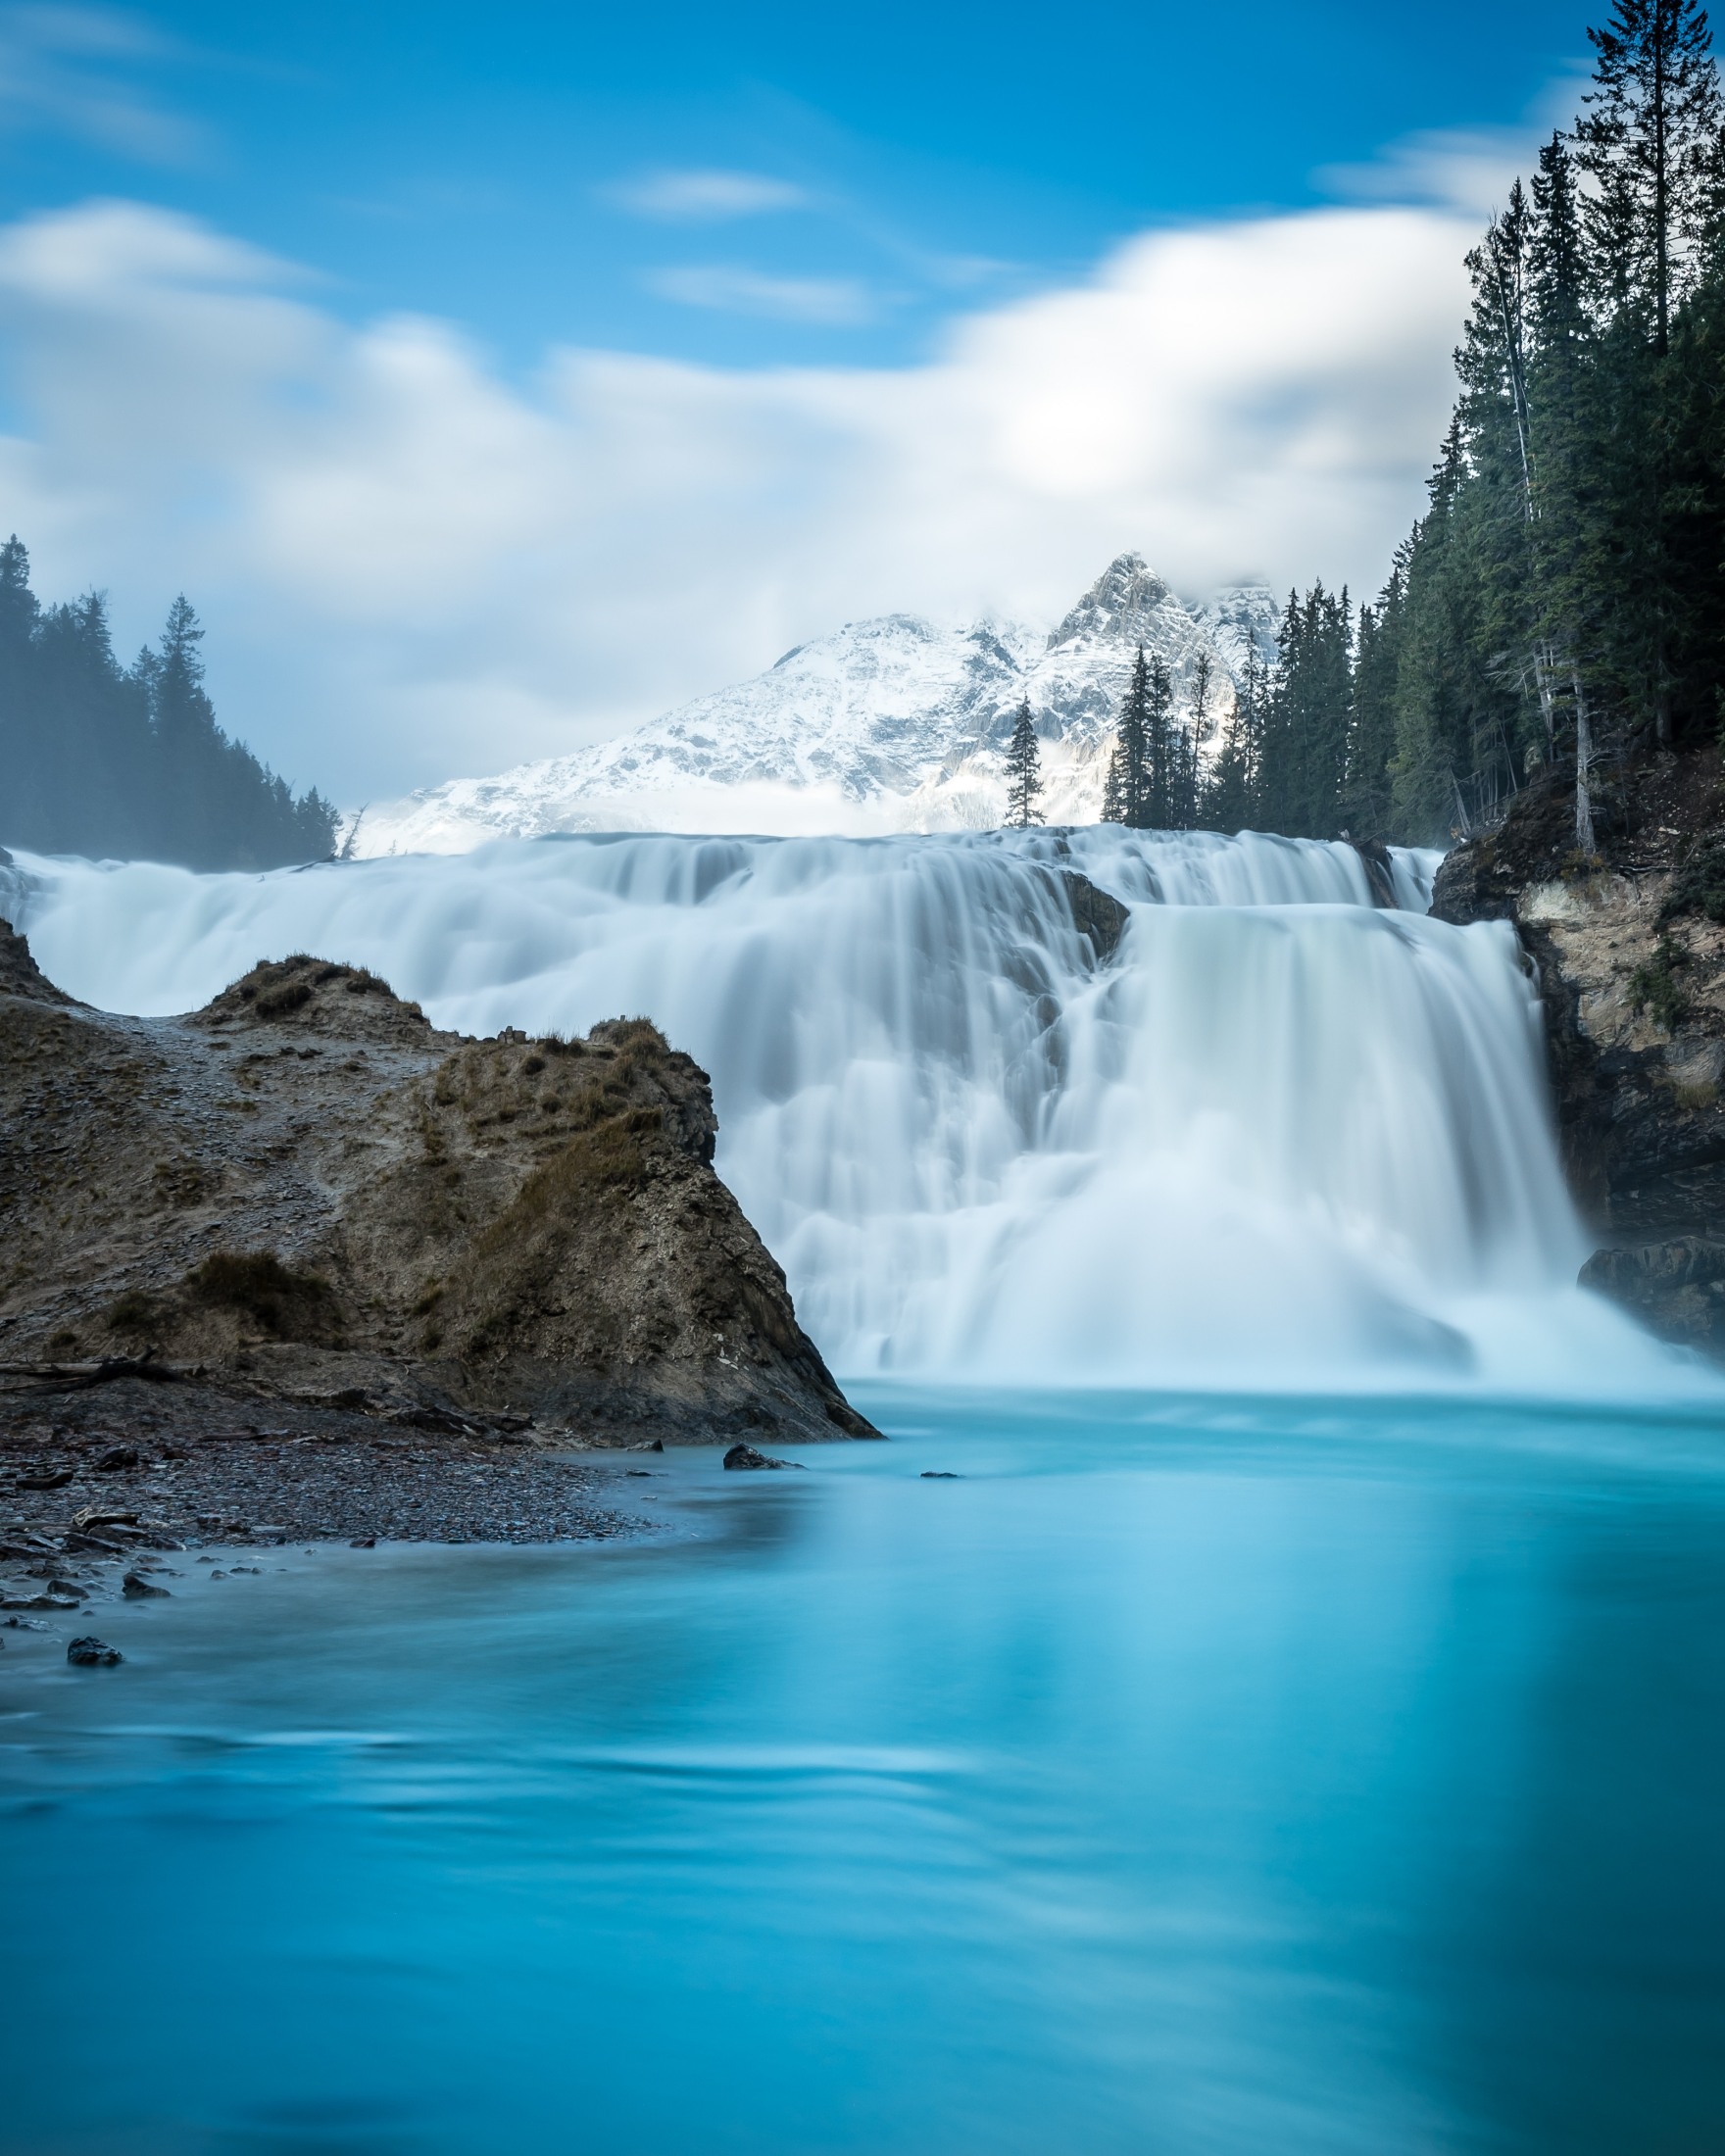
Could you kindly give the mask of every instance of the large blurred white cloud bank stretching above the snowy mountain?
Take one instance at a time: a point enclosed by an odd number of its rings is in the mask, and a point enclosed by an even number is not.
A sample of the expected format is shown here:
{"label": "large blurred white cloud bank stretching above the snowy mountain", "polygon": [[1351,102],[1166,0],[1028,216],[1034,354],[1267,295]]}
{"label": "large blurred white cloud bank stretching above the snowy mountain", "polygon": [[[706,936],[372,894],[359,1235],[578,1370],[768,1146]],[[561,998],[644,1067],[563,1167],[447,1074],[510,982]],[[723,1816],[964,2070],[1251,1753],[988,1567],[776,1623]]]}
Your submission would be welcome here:
{"label": "large blurred white cloud bank stretching above the snowy mountain", "polygon": [[1054,617],[1121,548],[1182,589],[1382,578],[1451,399],[1471,218],[1324,209],[1119,248],[897,369],[341,323],[136,205],[0,229],[39,589],[177,589],[229,722],[354,802],[576,746],[845,619]]}

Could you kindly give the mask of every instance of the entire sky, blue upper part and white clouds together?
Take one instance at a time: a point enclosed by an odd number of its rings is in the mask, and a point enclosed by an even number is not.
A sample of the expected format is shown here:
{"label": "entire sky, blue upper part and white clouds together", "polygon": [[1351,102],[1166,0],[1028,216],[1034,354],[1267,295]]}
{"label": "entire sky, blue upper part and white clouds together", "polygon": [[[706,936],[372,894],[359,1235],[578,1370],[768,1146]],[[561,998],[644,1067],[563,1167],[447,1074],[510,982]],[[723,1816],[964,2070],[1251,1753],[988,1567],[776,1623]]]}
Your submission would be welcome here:
{"label": "entire sky, blue upper part and white clouds together", "polygon": [[0,522],[343,798],[884,610],[1374,584],[1583,19],[0,9]]}

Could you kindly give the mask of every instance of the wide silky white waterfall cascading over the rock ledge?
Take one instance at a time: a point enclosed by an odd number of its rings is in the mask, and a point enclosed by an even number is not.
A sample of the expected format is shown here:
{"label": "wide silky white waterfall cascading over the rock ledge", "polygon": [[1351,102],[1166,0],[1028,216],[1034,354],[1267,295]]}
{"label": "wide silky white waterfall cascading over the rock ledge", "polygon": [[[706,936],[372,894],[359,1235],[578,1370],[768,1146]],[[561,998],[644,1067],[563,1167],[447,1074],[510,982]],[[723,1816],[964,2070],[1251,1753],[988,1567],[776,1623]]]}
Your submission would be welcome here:
{"label": "wide silky white waterfall cascading over the rock ledge", "polygon": [[[1070,860],[1132,908],[1113,964]],[[1643,1388],[1574,1289],[1531,983],[1503,925],[1358,856],[1117,830],[610,837],[259,877],[24,860],[43,968],[190,1009],[362,962],[444,1026],[647,1013],[714,1074],[718,1166],[839,1371]]]}

